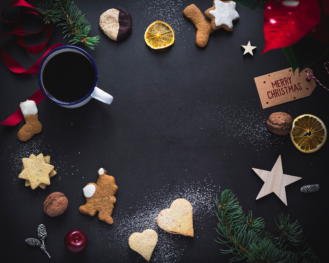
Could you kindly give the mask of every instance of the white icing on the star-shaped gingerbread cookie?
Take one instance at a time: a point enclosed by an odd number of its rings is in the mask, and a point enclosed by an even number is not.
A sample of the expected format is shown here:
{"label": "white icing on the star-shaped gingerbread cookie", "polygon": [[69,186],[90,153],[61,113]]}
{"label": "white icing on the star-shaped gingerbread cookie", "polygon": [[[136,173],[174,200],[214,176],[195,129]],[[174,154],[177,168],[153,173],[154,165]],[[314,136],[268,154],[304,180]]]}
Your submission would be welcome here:
{"label": "white icing on the star-shaped gingerbread cookie", "polygon": [[231,1],[224,3],[219,0],[214,1],[215,10],[210,10],[209,13],[215,17],[215,25],[227,25],[230,29],[233,28],[233,20],[238,19],[240,16],[235,10],[236,3]]}

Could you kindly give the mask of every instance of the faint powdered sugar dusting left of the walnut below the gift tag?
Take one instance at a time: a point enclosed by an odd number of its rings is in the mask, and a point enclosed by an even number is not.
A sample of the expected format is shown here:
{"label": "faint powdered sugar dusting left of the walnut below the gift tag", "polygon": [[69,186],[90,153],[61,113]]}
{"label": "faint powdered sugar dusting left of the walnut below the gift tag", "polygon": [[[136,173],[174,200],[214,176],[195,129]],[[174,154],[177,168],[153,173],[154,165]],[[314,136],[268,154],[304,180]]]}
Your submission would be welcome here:
{"label": "faint powdered sugar dusting left of the walnut below the gift tag", "polygon": [[[236,98],[197,105],[195,117],[203,132],[217,132],[227,143],[238,143],[253,149],[277,147],[290,143],[290,137],[279,136],[268,131],[266,120],[269,115],[254,110],[254,105]],[[289,111],[287,112],[289,114]]]}

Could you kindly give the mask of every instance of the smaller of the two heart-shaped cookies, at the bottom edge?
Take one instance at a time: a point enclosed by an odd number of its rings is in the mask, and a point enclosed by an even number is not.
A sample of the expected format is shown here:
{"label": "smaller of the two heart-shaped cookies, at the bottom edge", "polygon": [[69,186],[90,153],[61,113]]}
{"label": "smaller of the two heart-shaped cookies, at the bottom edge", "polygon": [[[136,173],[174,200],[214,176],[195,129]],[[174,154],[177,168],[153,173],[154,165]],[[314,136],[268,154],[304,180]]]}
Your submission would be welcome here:
{"label": "smaller of the two heart-shaped cookies, at the bottom edge", "polygon": [[158,234],[153,229],[132,233],[129,237],[129,247],[150,260],[152,252],[158,242]]}

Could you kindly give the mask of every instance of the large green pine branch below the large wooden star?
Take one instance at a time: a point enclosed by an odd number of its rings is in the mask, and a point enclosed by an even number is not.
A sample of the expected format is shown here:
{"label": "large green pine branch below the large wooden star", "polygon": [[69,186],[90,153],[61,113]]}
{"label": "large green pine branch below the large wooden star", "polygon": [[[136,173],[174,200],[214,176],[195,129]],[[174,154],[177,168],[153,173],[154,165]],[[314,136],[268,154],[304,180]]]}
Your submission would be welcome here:
{"label": "large green pine branch below the large wooden star", "polygon": [[[215,240],[228,248],[223,253],[233,253],[233,261],[246,260],[259,263],[320,263],[314,250],[306,242],[298,221],[290,222],[289,215],[279,215],[276,220],[280,236],[273,238],[265,230],[263,218],[253,218],[252,212],[244,215],[242,207],[230,190],[215,198],[217,233]],[[224,237],[224,240],[222,240]]]}

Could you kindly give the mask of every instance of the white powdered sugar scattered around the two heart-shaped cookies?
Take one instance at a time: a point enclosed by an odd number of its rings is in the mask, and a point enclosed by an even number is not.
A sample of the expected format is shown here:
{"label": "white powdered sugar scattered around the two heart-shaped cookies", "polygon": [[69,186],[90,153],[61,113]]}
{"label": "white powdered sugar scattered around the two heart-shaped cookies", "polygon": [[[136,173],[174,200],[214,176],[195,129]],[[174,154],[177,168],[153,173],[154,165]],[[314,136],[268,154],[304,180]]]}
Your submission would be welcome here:
{"label": "white powdered sugar scattered around the two heart-shaped cookies", "polygon": [[[102,236],[102,240],[111,240],[111,244],[101,242],[100,251],[111,249],[114,253],[119,253],[120,262],[132,262],[141,258],[139,254],[129,248],[128,238],[134,232],[142,232],[145,229],[153,229],[158,234],[158,243],[153,251],[151,260],[154,262],[177,262],[184,257],[184,250],[179,245],[186,248],[191,238],[196,239],[202,233],[202,227],[211,222],[210,217],[215,213],[214,197],[219,190],[219,186],[210,186],[212,182],[208,179],[204,181],[193,181],[188,183],[184,180],[177,180],[177,185],[166,184],[160,189],[150,190],[143,195],[134,195],[137,203],[127,207],[124,211],[114,209],[114,224],[108,231],[98,224],[90,227],[94,222],[88,223],[88,227],[96,236]],[[188,200],[193,208],[193,228],[194,237],[186,237],[179,234],[171,234],[159,228],[156,218],[159,212],[169,208],[170,204],[178,199]],[[134,211],[133,213],[131,211]],[[92,223],[92,224],[90,224]],[[105,235],[105,236],[104,236]]]}

